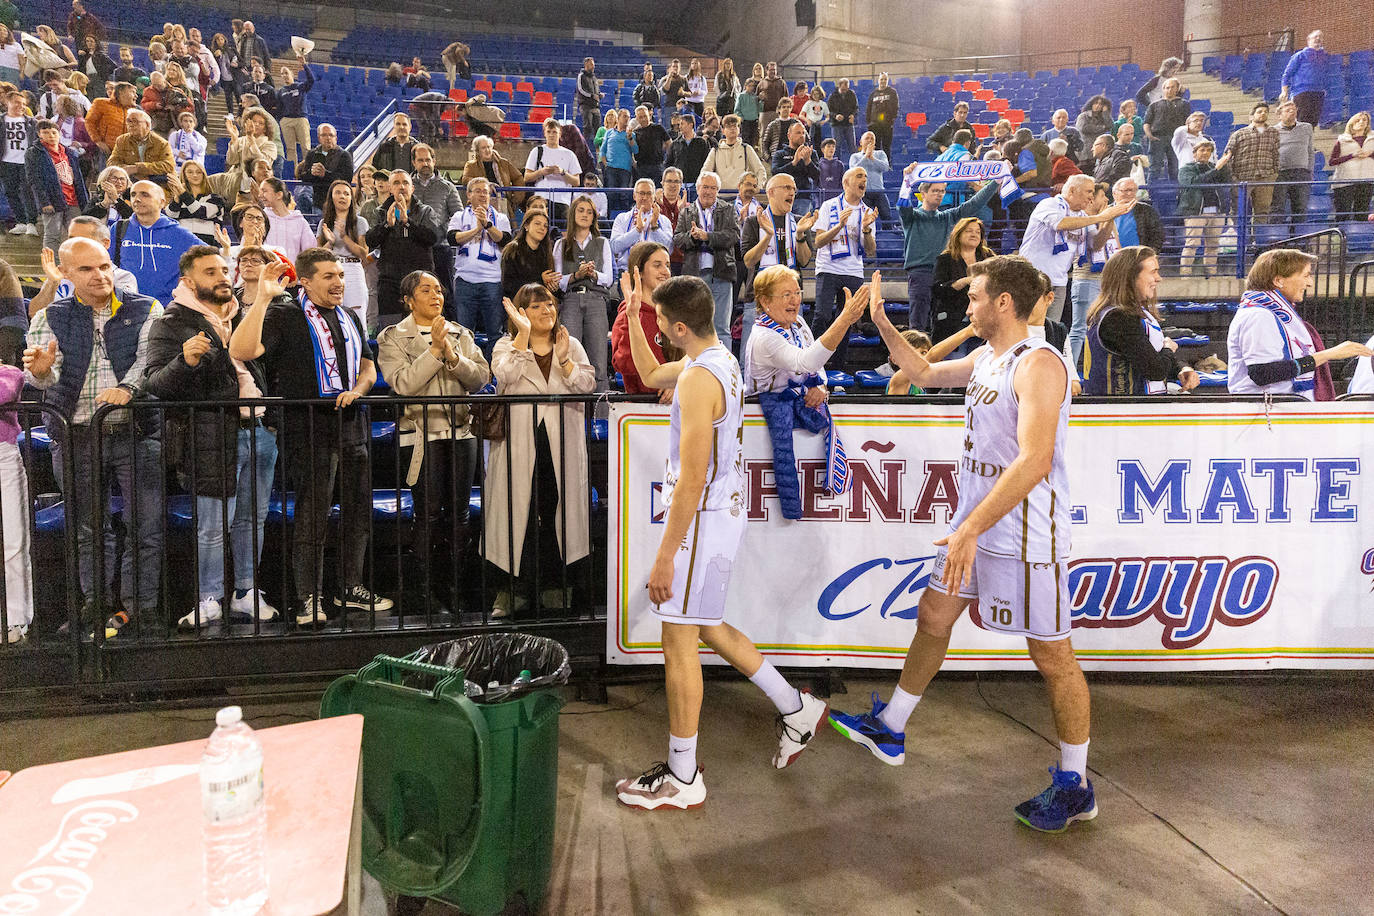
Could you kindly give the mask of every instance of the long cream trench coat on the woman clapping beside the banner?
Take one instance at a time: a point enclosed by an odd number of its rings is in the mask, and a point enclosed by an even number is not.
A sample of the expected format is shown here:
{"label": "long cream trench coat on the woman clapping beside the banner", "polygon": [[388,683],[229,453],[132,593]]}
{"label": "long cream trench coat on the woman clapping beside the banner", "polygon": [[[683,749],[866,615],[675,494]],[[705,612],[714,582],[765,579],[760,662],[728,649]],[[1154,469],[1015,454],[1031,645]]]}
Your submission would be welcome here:
{"label": "long cream trench coat on the woman clapping beside the banner", "polygon": [[[596,369],[592,368],[587,350],[576,338],[569,343],[569,356],[577,365],[573,375],[563,378],[562,369],[555,365],[545,380],[534,363],[533,350],[517,350],[510,335],[503,336],[492,350],[496,393],[591,394],[596,387]],[[581,404],[567,404],[562,408],[554,404],[514,405],[510,409],[506,438],[492,442],[486,459],[486,482],[482,489],[482,555],[499,569],[517,575],[525,545],[525,527],[529,523],[534,428],[540,420],[548,430],[548,444],[554,453],[554,475],[559,496],[555,527],[563,562],[573,563],[591,553],[587,511],[587,411]],[[507,529],[507,504],[510,529]]]}

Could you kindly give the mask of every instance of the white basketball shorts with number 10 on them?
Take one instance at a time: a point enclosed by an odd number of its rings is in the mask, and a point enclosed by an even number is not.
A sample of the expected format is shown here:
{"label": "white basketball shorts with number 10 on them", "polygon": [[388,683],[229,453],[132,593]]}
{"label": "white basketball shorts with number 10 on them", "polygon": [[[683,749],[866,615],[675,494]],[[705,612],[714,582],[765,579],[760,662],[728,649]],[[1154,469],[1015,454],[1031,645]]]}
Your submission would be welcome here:
{"label": "white basketball shorts with number 10 on them", "polygon": [[[929,588],[948,595],[944,585],[945,548],[938,551]],[[978,551],[969,584],[959,589],[959,597],[978,602],[978,617],[985,629],[1047,641],[1069,636],[1068,563],[1028,563]]]}

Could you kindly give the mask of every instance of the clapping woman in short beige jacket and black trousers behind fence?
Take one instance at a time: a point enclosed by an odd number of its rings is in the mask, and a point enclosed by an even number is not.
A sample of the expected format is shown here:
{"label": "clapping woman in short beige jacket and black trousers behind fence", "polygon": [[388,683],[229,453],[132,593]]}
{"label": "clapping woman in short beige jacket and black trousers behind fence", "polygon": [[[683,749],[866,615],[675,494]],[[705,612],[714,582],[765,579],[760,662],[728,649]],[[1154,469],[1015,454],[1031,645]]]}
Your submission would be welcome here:
{"label": "clapping woman in short beige jacket and black trousers behind fence", "polygon": [[[376,365],[404,397],[460,397],[492,378],[473,332],[444,320],[444,287],[427,271],[401,280],[407,314],[376,339]],[[397,442],[409,448],[403,463],[415,496],[415,553],[426,560],[426,592],[448,593],[467,544],[467,508],[477,471],[478,442],[466,404],[409,404],[397,423]],[[418,483],[418,486],[416,486]],[[452,604],[451,604],[452,607]]]}

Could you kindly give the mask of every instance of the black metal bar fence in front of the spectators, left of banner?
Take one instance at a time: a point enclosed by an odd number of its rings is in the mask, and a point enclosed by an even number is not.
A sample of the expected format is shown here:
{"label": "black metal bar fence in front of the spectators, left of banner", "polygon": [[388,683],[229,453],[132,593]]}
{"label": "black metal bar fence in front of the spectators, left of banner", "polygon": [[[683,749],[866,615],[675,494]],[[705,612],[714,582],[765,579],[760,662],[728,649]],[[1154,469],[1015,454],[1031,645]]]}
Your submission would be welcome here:
{"label": "black metal bar fence in front of the spectators, left of banner", "polygon": [[25,402],[32,499],[0,507],[34,507],[37,588],[32,622],[0,600],[27,623],[0,643],[0,691],[317,676],[510,626],[600,655],[596,400],[140,400],[81,427]]}

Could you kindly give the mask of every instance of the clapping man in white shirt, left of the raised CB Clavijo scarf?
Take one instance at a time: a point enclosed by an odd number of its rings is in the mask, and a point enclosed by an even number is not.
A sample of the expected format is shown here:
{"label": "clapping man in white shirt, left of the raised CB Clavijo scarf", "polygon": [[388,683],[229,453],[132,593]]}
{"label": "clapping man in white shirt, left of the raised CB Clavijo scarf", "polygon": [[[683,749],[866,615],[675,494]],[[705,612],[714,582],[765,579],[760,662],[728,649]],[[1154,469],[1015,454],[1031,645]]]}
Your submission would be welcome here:
{"label": "clapping man in white shirt, left of the raised CB Clavijo scarf", "polygon": [[[812,328],[824,334],[835,317],[840,290],[857,293],[864,283],[864,258],[878,254],[875,224],[878,211],[863,202],[868,192],[868,173],[855,166],[841,181],[844,194],[820,205],[816,216],[816,309]],[[844,368],[849,354],[849,335],[840,339],[835,367]]]}

